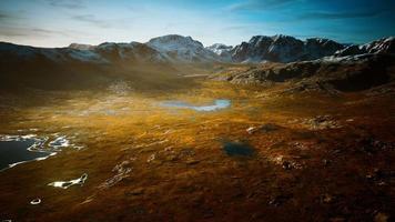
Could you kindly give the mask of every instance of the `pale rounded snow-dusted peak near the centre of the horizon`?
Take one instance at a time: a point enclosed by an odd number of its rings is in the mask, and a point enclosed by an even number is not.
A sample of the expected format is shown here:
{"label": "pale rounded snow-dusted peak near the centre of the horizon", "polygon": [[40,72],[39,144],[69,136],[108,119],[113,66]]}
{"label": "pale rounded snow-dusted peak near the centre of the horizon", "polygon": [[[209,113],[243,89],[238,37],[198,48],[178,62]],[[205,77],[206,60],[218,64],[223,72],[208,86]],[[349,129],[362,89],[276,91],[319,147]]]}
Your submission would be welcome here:
{"label": "pale rounded snow-dusted peak near the centre of the horizon", "polygon": [[220,60],[219,56],[204,48],[191,37],[169,34],[151,39],[146,46],[165,54],[175,62],[210,62]]}

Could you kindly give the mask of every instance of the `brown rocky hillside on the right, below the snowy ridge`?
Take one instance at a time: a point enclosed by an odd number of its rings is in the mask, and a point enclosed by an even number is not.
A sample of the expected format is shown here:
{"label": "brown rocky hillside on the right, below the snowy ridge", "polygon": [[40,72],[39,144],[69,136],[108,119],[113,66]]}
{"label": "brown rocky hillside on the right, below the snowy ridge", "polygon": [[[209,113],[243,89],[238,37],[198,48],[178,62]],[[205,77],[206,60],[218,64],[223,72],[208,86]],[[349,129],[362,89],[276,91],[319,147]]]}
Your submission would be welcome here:
{"label": "brown rocky hillside on the right, below the snowy ridge", "polygon": [[292,91],[361,91],[394,82],[395,56],[371,53],[285,64],[265,63],[224,70],[213,78],[237,84],[290,83]]}

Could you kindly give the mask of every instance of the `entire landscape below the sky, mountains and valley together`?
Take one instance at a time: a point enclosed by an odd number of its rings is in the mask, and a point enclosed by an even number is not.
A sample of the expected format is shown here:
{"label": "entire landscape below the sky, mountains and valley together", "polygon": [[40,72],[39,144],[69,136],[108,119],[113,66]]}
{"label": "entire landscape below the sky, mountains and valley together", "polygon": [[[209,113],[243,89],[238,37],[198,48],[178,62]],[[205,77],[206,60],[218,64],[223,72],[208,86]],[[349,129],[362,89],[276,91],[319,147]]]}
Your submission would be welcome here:
{"label": "entire landscape below the sky, mountains and valley together", "polygon": [[0,43],[0,219],[388,221],[394,42]]}

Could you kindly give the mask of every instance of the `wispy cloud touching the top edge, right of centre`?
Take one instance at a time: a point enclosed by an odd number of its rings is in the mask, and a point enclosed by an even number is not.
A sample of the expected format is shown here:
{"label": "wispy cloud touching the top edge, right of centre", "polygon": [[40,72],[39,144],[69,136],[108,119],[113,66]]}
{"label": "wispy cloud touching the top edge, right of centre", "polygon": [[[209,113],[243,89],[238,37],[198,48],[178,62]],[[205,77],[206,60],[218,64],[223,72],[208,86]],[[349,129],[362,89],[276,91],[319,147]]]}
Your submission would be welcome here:
{"label": "wispy cloud touching the top edge, right of centre", "polygon": [[274,8],[282,8],[300,1],[301,0],[250,0],[242,3],[231,4],[226,9],[230,11],[264,11]]}

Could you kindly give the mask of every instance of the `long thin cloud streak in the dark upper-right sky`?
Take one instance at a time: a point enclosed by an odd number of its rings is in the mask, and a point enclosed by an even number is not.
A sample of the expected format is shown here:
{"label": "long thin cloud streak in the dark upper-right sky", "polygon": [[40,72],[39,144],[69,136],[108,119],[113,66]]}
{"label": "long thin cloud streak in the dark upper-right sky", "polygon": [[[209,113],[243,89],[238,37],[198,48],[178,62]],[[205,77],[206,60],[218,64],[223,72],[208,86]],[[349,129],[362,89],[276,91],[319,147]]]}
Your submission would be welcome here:
{"label": "long thin cloud streak in the dark upper-right sky", "polygon": [[306,12],[297,17],[298,20],[333,20],[333,19],[357,19],[371,18],[383,13],[385,10],[377,11],[354,11],[354,12]]}

